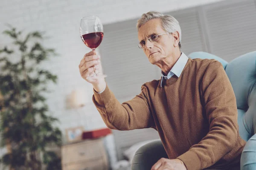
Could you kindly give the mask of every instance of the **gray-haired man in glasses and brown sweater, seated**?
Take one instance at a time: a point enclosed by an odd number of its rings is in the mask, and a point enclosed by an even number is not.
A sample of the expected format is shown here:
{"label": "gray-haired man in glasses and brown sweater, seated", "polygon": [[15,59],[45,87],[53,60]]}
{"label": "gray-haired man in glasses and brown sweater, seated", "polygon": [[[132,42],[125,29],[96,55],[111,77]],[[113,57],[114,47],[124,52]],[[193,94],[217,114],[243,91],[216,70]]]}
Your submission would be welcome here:
{"label": "gray-haired man in glasses and brown sweater, seated", "polygon": [[170,15],[150,11],[137,21],[137,29],[139,48],[161,68],[162,77],[146,82],[130,101],[120,104],[104,78],[87,79],[94,65],[101,69],[95,51],[79,65],[81,76],[93,85],[93,102],[105,124],[116,130],[157,130],[169,159],[160,159],[151,170],[239,169],[245,141],[221,63],[181,52],[180,26]]}

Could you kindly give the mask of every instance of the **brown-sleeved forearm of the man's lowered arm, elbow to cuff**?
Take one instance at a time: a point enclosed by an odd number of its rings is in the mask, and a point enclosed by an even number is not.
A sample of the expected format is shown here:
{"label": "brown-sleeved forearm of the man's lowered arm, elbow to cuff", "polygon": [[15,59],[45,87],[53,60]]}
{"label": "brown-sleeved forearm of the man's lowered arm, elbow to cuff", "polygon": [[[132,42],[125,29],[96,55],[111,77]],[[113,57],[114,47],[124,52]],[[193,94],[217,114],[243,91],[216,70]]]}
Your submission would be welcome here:
{"label": "brown-sleeved forearm of the man's lowered arm, elbow to cuff", "polygon": [[[228,129],[221,128],[223,125],[230,125],[231,127]],[[216,122],[216,125],[201,142],[193,145],[186,153],[177,158],[184,162],[188,170],[199,170],[212,166],[230,152],[236,144],[238,131],[234,130],[235,128],[229,121]]]}

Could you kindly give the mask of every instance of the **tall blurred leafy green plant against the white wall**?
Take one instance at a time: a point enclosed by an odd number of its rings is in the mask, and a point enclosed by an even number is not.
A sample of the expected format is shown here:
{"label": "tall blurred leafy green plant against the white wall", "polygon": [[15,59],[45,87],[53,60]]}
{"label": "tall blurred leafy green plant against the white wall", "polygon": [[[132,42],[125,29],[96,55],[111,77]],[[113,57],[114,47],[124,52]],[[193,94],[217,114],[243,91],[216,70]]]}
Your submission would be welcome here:
{"label": "tall blurred leafy green plant against the white wall", "polygon": [[61,161],[47,146],[61,146],[61,130],[53,126],[58,119],[49,114],[44,96],[57,76],[40,67],[55,51],[41,44],[39,31],[22,37],[23,31],[10,26],[3,34],[13,45],[0,47],[0,144],[8,150],[1,163],[11,170],[59,170]]}

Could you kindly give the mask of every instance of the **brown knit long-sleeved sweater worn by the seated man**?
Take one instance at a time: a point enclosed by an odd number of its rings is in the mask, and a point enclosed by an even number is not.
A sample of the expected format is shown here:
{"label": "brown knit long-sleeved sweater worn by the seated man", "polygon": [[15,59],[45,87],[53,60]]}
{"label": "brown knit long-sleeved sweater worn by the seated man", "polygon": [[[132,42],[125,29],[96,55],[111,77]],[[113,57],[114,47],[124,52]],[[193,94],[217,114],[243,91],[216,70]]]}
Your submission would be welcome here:
{"label": "brown knit long-sleeved sweater worn by the seated man", "polygon": [[236,98],[220,62],[189,59],[180,77],[147,82],[120,104],[108,86],[93,102],[105,124],[116,130],[154,128],[169,159],[188,170],[238,165],[245,141],[237,124]]}

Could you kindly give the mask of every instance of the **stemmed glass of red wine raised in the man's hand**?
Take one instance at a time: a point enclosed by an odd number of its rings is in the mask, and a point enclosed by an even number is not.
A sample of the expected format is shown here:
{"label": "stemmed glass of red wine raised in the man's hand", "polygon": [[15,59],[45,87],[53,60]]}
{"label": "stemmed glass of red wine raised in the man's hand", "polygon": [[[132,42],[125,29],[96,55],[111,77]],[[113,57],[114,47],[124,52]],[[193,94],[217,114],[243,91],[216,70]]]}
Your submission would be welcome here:
{"label": "stemmed glass of red wine raised in the man's hand", "polygon": [[[87,47],[95,50],[103,39],[103,26],[99,17],[83,17],[80,23],[80,36]],[[98,77],[107,77],[107,75],[100,73],[97,65],[94,65],[94,73],[87,79],[96,79]]]}

